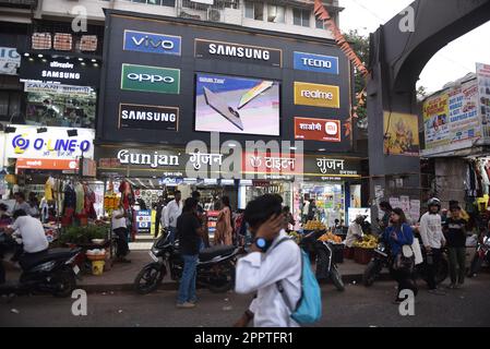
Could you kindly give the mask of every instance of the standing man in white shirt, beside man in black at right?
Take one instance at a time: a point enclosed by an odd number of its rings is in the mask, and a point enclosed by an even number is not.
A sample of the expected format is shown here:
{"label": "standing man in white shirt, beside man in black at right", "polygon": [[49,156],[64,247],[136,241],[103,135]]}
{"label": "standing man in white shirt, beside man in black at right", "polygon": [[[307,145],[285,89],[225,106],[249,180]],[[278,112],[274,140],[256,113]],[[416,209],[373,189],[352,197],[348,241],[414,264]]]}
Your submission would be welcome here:
{"label": "standing man in white shirt, beside man in black at right", "polygon": [[445,244],[445,238],[442,233],[441,201],[432,197],[427,203],[429,212],[420,218],[420,237],[422,238],[423,248],[427,257],[427,274],[429,292],[432,294],[444,296],[445,292],[438,290],[435,275],[438,275],[438,266],[442,257],[442,248]]}

